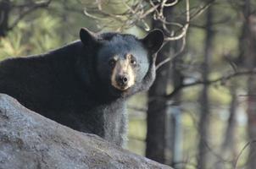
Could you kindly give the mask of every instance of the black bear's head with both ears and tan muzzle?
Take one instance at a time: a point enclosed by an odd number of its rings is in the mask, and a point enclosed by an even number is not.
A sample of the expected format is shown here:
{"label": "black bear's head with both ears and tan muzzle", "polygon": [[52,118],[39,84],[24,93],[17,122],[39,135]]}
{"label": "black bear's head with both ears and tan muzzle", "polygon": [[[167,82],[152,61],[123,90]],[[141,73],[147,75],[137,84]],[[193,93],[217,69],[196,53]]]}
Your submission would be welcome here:
{"label": "black bear's head with both ears and tan muzzle", "polygon": [[138,39],[119,33],[95,35],[82,28],[80,37],[87,50],[97,49],[93,56],[97,84],[111,95],[123,96],[140,90],[138,86],[144,83],[153,53],[159,51],[164,41],[161,30],[152,30]]}

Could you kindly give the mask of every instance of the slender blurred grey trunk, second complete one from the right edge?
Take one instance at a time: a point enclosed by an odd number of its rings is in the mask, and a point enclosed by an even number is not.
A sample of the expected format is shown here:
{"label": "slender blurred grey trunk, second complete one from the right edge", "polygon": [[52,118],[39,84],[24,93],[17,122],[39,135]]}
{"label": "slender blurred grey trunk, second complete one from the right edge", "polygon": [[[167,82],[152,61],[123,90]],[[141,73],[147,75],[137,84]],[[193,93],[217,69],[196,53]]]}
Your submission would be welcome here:
{"label": "slender blurred grey trunk, second complete one from the right edge", "polygon": [[[209,62],[212,55],[214,31],[212,28],[213,9],[209,7],[206,15],[206,34],[204,46],[204,61],[202,66],[203,81],[209,77]],[[199,119],[199,144],[198,144],[198,168],[206,168],[208,163],[208,139],[209,139],[209,86],[203,85],[202,94],[200,95],[201,115]]]}

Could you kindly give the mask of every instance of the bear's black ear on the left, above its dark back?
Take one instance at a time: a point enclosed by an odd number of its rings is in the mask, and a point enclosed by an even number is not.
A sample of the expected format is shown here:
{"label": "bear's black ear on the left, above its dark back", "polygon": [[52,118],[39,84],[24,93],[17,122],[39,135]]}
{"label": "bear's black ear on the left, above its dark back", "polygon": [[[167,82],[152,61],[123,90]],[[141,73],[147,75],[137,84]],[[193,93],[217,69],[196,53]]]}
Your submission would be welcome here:
{"label": "bear's black ear on the left, above its dark back", "polygon": [[96,35],[86,28],[81,28],[80,39],[85,46],[93,46],[97,43]]}

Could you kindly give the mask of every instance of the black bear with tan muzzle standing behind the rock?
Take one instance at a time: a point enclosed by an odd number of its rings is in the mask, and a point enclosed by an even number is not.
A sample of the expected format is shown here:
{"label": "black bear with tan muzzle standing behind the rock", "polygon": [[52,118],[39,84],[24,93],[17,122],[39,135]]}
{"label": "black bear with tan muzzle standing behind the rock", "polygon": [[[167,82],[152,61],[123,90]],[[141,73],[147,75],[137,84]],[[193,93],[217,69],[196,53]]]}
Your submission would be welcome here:
{"label": "black bear with tan muzzle standing behind the rock", "polygon": [[46,54],[0,63],[0,93],[81,132],[114,144],[125,143],[130,95],[147,90],[155,78],[161,30],[143,39],[82,28],[75,41]]}

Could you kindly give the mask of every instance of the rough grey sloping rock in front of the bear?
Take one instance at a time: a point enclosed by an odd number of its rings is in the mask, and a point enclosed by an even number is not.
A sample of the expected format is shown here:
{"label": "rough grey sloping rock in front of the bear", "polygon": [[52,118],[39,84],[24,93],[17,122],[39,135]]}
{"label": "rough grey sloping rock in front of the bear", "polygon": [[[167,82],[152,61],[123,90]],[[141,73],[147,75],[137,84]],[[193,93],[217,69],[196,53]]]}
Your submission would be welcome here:
{"label": "rough grey sloping rock in front of the bear", "polygon": [[0,168],[170,167],[55,123],[0,94]]}

